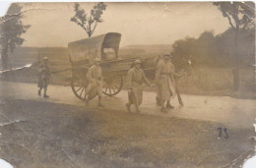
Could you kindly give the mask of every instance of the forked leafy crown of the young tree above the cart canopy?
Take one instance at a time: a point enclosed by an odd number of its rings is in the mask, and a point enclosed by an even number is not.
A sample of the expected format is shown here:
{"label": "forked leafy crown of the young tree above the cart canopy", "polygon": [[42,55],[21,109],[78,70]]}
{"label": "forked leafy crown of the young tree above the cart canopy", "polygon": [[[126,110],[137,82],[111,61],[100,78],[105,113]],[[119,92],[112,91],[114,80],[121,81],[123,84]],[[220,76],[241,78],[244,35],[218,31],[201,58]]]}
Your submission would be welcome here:
{"label": "forked leafy crown of the young tree above the cart canopy", "polygon": [[103,22],[101,15],[105,9],[106,5],[103,2],[99,2],[94,6],[94,9],[91,10],[91,14],[89,15],[84,9],[80,9],[79,3],[75,3],[75,16],[70,21],[85,29],[88,36],[91,37],[95,32],[97,24]]}

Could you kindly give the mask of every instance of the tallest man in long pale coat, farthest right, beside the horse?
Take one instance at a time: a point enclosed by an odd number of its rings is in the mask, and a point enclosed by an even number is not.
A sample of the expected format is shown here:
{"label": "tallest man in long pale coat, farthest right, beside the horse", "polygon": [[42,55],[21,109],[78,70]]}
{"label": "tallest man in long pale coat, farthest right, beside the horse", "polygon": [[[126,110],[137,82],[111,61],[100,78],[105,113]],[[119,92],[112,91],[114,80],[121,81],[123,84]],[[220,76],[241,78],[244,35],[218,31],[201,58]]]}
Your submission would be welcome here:
{"label": "tallest man in long pale coat, farthest right, beside the horse", "polygon": [[[175,95],[174,66],[170,62],[170,55],[164,55],[163,61],[160,61],[156,71],[155,84],[158,85],[158,98],[160,99],[160,111],[166,112],[165,101]],[[172,106],[170,106],[171,108]]]}

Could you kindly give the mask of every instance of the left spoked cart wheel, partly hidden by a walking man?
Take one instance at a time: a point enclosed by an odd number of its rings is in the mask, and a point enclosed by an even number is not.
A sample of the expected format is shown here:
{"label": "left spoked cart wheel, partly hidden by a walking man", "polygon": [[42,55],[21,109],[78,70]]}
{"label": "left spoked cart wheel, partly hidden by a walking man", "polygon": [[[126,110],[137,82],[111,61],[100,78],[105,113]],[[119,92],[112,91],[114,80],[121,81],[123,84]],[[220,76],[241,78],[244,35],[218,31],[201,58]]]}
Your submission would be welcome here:
{"label": "left spoked cart wheel, partly hidden by a walking man", "polygon": [[81,71],[77,75],[77,78],[72,79],[71,81],[71,88],[74,94],[81,100],[85,100],[85,93],[86,93],[87,81],[86,81],[86,74],[82,73]]}

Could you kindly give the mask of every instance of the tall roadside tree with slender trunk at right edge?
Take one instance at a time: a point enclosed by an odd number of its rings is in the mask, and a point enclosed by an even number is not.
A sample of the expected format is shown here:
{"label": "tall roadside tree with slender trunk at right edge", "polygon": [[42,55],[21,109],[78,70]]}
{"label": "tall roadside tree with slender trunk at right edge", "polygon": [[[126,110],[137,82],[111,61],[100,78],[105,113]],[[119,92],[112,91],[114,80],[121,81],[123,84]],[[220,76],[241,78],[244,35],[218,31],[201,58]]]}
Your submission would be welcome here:
{"label": "tall roadside tree with slender trunk at right edge", "polygon": [[237,39],[246,28],[254,27],[255,7],[253,2],[214,2],[219,10],[227,18],[229,26],[234,32],[233,44],[233,89],[238,90],[239,78],[239,54],[237,53]]}

